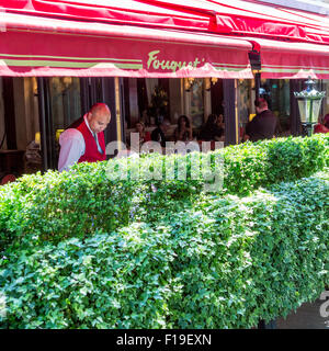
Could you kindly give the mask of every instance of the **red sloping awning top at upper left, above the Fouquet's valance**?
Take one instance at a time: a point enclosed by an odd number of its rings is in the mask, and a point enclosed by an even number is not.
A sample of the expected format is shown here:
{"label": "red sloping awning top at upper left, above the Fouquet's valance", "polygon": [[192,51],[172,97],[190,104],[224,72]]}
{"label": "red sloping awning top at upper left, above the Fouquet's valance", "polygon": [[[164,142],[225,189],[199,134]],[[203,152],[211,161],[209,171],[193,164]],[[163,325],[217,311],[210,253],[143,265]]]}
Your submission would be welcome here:
{"label": "red sloping awning top at upper left, above the Fouquet's valance", "polygon": [[[148,25],[166,29],[207,30],[209,14],[162,7],[143,0],[0,0],[7,13],[66,21]],[[171,9],[172,8],[172,9]]]}

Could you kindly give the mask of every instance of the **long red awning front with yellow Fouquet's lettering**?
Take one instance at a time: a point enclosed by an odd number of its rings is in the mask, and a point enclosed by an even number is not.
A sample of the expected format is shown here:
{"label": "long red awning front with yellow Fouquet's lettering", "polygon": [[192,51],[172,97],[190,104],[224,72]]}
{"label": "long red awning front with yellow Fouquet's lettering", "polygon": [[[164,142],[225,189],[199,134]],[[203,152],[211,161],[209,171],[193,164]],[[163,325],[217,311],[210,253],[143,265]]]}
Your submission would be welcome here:
{"label": "long red awning front with yellow Fouquet's lettering", "polygon": [[5,14],[0,75],[252,78],[239,38]]}

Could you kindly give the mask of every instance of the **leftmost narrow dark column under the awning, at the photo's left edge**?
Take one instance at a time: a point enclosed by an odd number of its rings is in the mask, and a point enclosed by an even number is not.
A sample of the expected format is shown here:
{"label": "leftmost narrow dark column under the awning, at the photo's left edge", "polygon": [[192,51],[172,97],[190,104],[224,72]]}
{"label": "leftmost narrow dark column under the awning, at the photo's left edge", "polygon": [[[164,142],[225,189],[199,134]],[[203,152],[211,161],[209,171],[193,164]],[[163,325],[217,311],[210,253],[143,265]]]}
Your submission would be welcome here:
{"label": "leftmost narrow dark column under the awning, at the photo's left edge", "polygon": [[2,82],[3,82],[2,94],[3,94],[3,105],[4,105],[3,106],[4,107],[4,129],[7,135],[7,148],[10,150],[10,149],[18,148],[13,78],[3,77]]}

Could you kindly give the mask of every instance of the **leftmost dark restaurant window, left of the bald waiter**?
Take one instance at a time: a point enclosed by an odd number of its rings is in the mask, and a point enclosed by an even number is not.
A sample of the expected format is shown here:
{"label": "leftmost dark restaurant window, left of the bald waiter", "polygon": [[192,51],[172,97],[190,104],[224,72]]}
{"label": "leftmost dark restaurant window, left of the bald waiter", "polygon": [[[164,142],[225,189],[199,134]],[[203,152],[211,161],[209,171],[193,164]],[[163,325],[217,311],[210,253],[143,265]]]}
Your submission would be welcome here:
{"label": "leftmost dark restaurant window, left of the bald waiter", "polygon": [[[0,184],[42,169],[36,78],[0,78]],[[13,180],[13,178],[12,178]]]}

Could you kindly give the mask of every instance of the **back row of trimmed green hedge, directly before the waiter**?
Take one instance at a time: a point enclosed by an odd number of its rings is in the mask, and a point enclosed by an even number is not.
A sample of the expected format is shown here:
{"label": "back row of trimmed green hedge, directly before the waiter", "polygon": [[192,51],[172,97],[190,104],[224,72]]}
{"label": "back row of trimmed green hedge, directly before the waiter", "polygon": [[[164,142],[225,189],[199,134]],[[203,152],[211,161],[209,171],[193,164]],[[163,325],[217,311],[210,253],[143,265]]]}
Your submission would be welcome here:
{"label": "back row of trimmed green hedge, directly before the waiter", "polygon": [[[246,196],[259,186],[308,177],[324,168],[328,159],[329,137],[280,138],[247,143],[215,152],[186,156],[144,156],[111,160],[115,174],[139,166],[141,171],[173,165],[175,179],[109,179],[107,162],[80,163],[72,172],[48,171],[44,176],[24,176],[18,182],[0,188],[0,250],[20,245],[22,237],[37,235],[41,242],[58,242],[69,237],[88,237],[95,229],[110,233],[136,220],[157,223],[182,205],[192,205],[211,182],[193,179],[195,160],[211,157],[224,161],[223,188],[217,194]],[[188,179],[178,180],[180,166],[186,165]],[[111,174],[113,173],[111,172]],[[114,174],[114,173],[113,173]],[[218,172],[217,172],[218,174]],[[149,211],[151,208],[151,211]]]}

